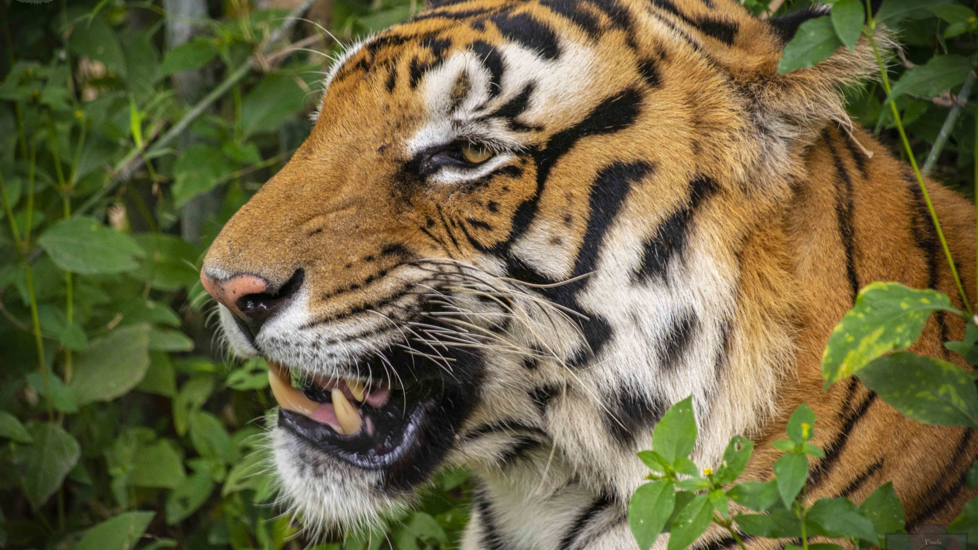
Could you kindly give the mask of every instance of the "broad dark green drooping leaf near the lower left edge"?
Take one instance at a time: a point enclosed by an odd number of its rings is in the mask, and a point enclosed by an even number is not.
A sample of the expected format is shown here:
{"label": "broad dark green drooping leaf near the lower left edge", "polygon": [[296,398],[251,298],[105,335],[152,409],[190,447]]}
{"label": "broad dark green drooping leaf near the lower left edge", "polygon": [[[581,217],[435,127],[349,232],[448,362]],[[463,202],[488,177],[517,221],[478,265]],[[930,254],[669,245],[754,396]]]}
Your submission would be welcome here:
{"label": "broad dark green drooping leaf near the lower left edge", "polygon": [[57,424],[31,421],[27,433],[34,442],[11,449],[11,463],[23,494],[35,510],[65,482],[81,455],[78,441]]}

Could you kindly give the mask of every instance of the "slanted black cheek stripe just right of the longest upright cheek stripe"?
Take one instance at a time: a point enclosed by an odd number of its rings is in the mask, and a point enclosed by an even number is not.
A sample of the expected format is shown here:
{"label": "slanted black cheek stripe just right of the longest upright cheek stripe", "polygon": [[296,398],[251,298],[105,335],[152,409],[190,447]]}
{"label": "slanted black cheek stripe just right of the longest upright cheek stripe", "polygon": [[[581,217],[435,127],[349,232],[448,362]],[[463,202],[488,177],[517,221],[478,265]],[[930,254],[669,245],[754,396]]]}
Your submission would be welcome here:
{"label": "slanted black cheek stripe just right of the longest upright cheek stripe", "polygon": [[696,210],[719,190],[716,182],[706,176],[697,176],[689,183],[687,204],[666,218],[655,234],[643,243],[642,262],[632,276],[633,281],[665,277],[670,259],[685,252],[689,226]]}

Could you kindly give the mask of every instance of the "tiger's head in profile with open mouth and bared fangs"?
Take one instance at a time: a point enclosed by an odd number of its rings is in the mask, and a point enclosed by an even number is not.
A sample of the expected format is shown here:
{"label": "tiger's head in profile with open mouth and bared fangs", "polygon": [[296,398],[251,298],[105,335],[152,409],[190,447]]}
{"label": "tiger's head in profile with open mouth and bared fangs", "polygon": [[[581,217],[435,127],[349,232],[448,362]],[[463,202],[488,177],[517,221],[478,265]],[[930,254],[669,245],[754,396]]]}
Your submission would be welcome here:
{"label": "tiger's head in profile with open mouth and bared fangs", "polygon": [[370,521],[446,463],[627,503],[672,403],[709,419],[703,465],[755,427],[791,353],[758,227],[873,67],[864,39],[778,73],[822,13],[469,0],[348,48],[201,271],[234,350],[272,366],[306,521]]}

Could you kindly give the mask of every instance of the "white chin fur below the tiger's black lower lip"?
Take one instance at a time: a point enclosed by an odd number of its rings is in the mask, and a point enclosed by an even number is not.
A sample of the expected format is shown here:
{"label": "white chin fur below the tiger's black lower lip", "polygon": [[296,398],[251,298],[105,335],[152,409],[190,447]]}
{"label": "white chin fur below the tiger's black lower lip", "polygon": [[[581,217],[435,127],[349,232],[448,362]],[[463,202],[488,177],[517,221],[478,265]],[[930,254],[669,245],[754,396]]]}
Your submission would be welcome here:
{"label": "white chin fur below the tiger's black lower lip", "polygon": [[337,461],[283,428],[271,435],[281,496],[306,527],[355,530],[407,509],[410,495],[382,490],[380,473]]}

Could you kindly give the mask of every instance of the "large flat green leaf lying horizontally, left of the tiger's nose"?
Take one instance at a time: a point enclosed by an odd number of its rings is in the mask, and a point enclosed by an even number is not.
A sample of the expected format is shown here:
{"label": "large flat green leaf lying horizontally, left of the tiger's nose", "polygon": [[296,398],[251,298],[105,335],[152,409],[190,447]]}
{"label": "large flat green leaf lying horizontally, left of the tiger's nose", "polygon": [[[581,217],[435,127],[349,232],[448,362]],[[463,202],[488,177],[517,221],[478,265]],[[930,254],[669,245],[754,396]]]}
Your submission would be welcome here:
{"label": "large flat green leaf lying horizontally, left of the tiger's nose", "polygon": [[59,220],[37,244],[58,267],[82,275],[131,271],[144,253],[128,235],[87,216]]}

